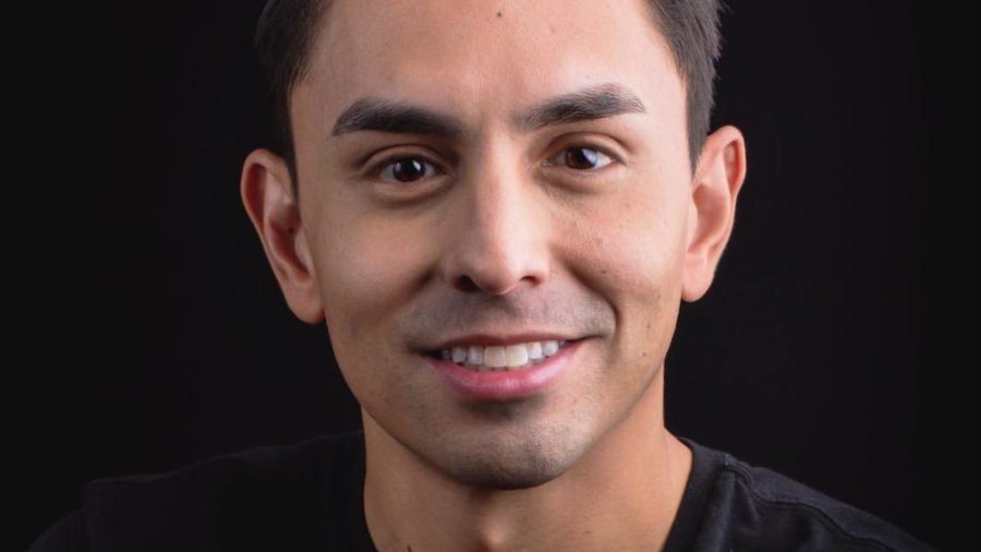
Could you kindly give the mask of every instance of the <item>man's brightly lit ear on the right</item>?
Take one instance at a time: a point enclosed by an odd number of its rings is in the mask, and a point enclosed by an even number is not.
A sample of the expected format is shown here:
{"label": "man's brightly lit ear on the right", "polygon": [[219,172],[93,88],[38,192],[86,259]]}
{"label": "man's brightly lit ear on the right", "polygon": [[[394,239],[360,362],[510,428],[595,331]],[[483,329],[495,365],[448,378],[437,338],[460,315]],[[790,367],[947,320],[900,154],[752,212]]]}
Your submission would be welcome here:
{"label": "man's brightly lit ear on the right", "polygon": [[732,233],[736,197],[746,179],[746,141],[736,127],[722,127],[705,140],[691,189],[688,248],[681,298],[697,301],[708,291]]}

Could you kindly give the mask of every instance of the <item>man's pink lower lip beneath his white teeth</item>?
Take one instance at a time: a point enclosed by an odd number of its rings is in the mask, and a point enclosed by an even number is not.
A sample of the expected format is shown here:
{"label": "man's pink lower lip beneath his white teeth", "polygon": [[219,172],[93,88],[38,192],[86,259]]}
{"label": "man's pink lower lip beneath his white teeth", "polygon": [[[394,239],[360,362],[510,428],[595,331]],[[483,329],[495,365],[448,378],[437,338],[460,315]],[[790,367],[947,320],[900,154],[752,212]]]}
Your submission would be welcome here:
{"label": "man's pink lower lip beneath his white teeth", "polygon": [[457,393],[473,400],[509,400],[544,393],[566,371],[581,340],[567,341],[552,357],[511,372],[476,372],[451,360],[426,357],[444,380]]}

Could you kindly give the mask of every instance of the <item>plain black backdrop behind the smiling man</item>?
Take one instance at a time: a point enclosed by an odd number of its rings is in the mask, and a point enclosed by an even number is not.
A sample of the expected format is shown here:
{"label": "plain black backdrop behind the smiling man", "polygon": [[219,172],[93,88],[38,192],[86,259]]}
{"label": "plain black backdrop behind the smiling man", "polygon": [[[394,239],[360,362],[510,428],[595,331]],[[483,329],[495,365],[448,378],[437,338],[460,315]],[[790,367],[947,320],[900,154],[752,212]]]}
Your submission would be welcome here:
{"label": "plain black backdrop behind the smiling man", "polygon": [[[923,14],[730,4],[714,121],[746,133],[749,175],[716,284],[682,309],[668,427],[948,548]],[[49,34],[27,89],[47,117],[8,158],[34,175],[8,179],[33,202],[11,233],[27,245],[8,250],[29,302],[11,344],[27,405],[15,549],[94,478],[360,423],[325,328],[289,312],[239,200],[241,163],[267,143],[261,8],[102,1]]]}

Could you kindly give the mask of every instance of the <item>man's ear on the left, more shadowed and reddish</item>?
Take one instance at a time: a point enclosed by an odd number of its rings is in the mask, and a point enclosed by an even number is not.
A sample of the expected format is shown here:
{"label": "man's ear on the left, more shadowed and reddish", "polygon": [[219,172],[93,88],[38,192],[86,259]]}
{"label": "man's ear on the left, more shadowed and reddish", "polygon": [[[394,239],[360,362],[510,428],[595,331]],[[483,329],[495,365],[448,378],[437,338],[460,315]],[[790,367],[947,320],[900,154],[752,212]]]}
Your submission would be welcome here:
{"label": "man's ear on the left, more shadowed and reddish", "polygon": [[240,188],[290,310],[310,324],[320,322],[324,311],[316,273],[286,160],[268,149],[252,152],[242,167]]}

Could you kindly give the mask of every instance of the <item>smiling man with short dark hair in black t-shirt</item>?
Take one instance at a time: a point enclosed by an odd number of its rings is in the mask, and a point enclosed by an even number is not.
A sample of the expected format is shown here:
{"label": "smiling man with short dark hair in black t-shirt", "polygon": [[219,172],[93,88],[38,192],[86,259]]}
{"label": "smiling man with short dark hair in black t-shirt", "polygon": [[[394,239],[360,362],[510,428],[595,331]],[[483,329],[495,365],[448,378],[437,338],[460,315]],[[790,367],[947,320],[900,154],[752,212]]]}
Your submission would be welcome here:
{"label": "smiling man with short dark hair in black t-shirt", "polygon": [[242,200],[363,434],[93,483],[35,550],[927,550],[665,428],[747,171],[717,11],[270,2]]}

